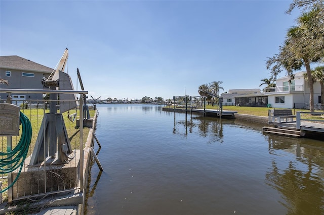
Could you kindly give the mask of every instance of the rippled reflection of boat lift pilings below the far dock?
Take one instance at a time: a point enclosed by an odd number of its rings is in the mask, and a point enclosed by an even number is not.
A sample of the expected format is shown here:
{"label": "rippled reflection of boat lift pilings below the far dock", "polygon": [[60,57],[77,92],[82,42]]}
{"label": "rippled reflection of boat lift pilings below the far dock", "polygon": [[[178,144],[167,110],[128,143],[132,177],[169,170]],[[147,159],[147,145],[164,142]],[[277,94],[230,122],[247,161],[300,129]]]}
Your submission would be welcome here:
{"label": "rippled reflection of boat lift pilings below the far dock", "polygon": [[223,142],[223,123],[219,118],[208,117],[189,117],[187,115],[185,120],[176,120],[174,116],[174,134],[182,134],[187,136],[189,133],[197,132],[200,136],[208,137],[212,136],[212,140],[209,142]]}

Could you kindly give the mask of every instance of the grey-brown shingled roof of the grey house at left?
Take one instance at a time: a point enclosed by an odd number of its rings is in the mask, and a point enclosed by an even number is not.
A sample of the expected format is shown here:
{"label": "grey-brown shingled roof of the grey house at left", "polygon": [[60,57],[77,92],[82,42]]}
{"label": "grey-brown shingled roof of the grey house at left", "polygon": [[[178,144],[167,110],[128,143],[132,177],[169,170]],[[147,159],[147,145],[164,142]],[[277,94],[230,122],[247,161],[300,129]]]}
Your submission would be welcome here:
{"label": "grey-brown shingled roof of the grey house at left", "polygon": [[0,56],[0,68],[51,73],[54,69],[19,56]]}

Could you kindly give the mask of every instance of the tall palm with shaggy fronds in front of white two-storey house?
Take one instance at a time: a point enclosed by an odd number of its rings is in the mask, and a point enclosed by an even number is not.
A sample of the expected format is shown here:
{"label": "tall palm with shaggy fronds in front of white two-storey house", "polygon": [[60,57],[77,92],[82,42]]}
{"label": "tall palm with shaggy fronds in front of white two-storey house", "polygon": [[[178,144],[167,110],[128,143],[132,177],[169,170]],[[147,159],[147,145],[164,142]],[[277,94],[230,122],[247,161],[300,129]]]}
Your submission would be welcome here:
{"label": "tall palm with shaggy fronds in front of white two-storey house", "polygon": [[[272,77],[282,71],[282,67],[293,77],[293,71],[306,68],[310,88],[310,111],[314,111],[314,88],[310,63],[318,62],[324,57],[324,19],[323,8],[315,7],[298,17],[298,26],[288,30],[287,38],[280,52],[267,61],[267,69],[271,68]],[[272,66],[274,64],[274,66]]]}

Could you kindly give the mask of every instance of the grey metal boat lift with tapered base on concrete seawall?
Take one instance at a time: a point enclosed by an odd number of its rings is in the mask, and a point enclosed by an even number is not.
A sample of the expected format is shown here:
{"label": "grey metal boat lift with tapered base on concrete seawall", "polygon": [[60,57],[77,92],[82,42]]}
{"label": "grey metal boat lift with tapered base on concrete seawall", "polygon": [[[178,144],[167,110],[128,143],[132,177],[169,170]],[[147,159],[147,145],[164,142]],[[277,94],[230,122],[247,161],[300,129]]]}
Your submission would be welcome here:
{"label": "grey metal boat lift with tapered base on concrete seawall", "polygon": [[[68,49],[66,48],[56,69],[47,79],[43,78],[44,87],[50,90],[74,90],[70,76],[63,72],[67,58]],[[59,113],[57,113],[58,101]],[[43,161],[46,164],[66,163],[71,159],[69,154],[72,153],[72,148],[62,113],[75,109],[77,105],[78,101],[75,94],[50,93],[50,113],[44,115],[31,155],[30,165],[36,165]]]}

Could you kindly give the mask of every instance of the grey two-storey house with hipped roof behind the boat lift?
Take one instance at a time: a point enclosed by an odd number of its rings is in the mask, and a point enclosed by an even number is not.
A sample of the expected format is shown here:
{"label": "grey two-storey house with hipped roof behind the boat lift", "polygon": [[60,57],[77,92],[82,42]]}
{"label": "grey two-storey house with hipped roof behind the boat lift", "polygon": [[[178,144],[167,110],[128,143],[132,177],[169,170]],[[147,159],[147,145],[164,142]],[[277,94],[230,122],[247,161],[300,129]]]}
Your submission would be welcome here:
{"label": "grey two-storey house with hipped roof behind the boat lift", "polygon": [[[43,89],[42,79],[48,77],[54,69],[37,64],[19,56],[0,56],[0,77],[9,85],[0,84],[1,88]],[[1,102],[7,99],[7,93],[0,93]],[[12,94],[13,100],[43,99],[42,94]]]}

